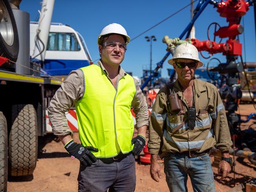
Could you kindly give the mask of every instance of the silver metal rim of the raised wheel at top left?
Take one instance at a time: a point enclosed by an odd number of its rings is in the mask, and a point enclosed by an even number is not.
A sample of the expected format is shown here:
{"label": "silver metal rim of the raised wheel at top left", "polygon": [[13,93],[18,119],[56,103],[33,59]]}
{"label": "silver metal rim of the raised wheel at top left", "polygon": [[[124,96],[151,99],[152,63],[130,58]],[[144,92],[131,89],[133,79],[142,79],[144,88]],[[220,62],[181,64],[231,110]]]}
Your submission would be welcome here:
{"label": "silver metal rim of the raised wheel at top left", "polygon": [[7,45],[13,44],[13,26],[5,4],[0,1],[0,33]]}

